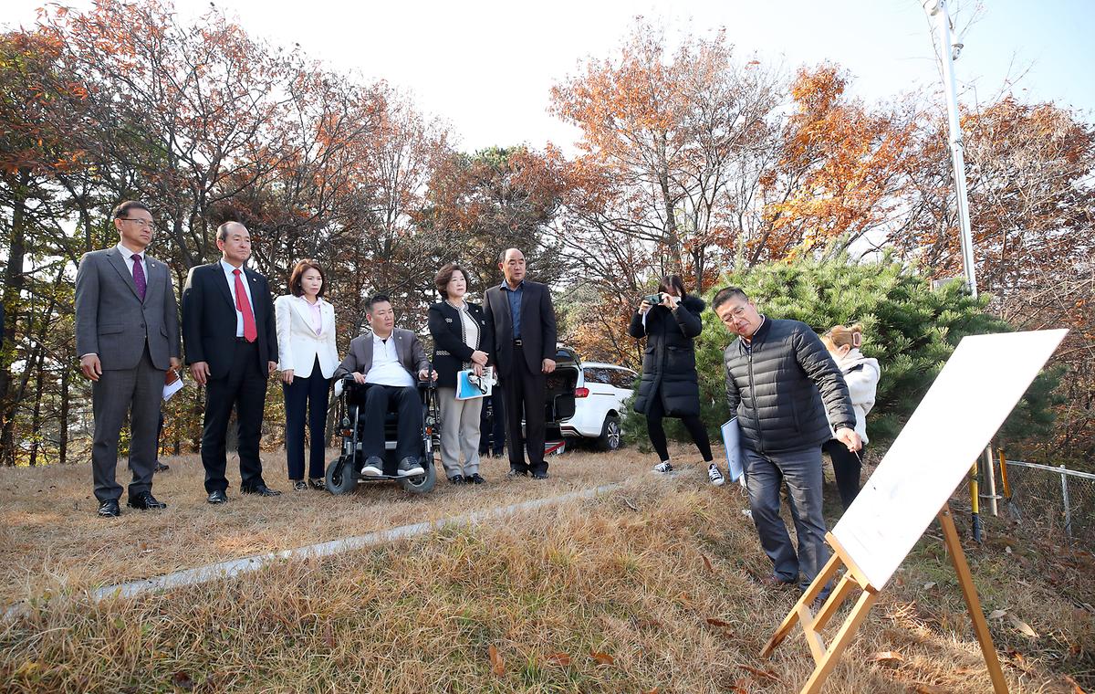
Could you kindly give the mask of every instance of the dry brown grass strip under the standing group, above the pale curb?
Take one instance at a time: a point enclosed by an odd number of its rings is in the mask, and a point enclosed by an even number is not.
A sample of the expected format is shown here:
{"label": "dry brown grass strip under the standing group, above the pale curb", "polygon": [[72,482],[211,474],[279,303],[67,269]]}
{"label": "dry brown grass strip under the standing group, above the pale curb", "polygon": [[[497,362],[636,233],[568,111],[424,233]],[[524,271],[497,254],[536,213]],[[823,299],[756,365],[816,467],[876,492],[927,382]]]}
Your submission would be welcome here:
{"label": "dry brown grass strip under the standing group, above the pale curb", "polygon": [[[328,459],[335,456],[328,451]],[[677,457],[699,460],[694,451]],[[230,457],[230,502],[212,507],[199,457],[178,456],[163,458],[171,469],[153,482],[165,511],[127,509],[123,491],[122,517],[113,520],[95,515],[90,464],[0,468],[0,605],[597,487],[645,473],[652,458],[633,450],[567,452],[551,456],[551,477],[534,483],[507,481],[508,463],[487,458],[480,468],[484,486],[453,487],[439,469],[428,494],[408,494],[393,482],[332,497],[291,491],[284,454],[267,453],[264,477],[280,497],[239,494],[239,464]],[[123,463],[123,486],[128,476]]]}

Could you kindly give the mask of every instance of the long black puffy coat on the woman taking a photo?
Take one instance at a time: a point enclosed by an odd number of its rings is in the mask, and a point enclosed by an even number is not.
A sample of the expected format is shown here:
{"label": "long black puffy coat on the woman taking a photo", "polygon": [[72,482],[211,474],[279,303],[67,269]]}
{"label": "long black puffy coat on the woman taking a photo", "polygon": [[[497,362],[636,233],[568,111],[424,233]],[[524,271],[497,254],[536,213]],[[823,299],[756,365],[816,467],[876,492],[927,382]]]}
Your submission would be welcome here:
{"label": "long black puffy coat on the woman taking a photo", "polygon": [[636,311],[627,327],[633,338],[646,338],[643,378],[638,384],[635,411],[646,413],[650,398],[660,397],[666,414],[687,417],[700,413],[700,380],[695,374],[693,340],[703,331],[701,315],[706,304],[685,296],[676,309],[655,306],[643,317]]}

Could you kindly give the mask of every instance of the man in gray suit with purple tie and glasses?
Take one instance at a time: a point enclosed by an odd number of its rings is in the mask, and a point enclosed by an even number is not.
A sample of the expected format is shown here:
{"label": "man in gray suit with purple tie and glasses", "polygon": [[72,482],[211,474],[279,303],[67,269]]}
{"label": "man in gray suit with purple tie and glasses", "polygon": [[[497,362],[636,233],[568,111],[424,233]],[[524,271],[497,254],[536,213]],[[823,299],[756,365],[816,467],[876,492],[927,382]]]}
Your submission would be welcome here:
{"label": "man in gray suit with purple tie and glasses", "polygon": [[128,201],[114,209],[118,244],[80,259],[76,274],[76,349],[92,380],[95,433],[91,451],[99,515],[120,514],[115,477],[118,436],[129,414],[128,505],[163,509],[152,496],[157,429],[168,368],[178,368],[178,312],[171,273],[145,254],[152,213]]}

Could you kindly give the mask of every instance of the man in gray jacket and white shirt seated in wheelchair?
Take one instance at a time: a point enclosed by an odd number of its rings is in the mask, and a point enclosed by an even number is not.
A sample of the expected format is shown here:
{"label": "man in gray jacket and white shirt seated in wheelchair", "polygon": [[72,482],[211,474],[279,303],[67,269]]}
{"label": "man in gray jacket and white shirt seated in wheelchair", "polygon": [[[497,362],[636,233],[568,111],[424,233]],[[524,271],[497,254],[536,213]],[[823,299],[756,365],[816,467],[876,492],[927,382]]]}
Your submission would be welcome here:
{"label": "man in gray jacket and white shirt seated in wheelchair", "polygon": [[361,474],[369,477],[383,475],[384,417],[394,410],[397,417],[399,437],[395,457],[396,474],[411,477],[425,474],[418,455],[422,448],[423,402],[415,380],[437,378],[430,373],[426,351],[417,335],[395,327],[392,303],[377,294],[366,305],[366,318],[372,332],[354,338],[349,353],[335,371],[335,379],[353,375],[354,382],[365,386],[359,414],[361,421],[361,453],[365,465]]}

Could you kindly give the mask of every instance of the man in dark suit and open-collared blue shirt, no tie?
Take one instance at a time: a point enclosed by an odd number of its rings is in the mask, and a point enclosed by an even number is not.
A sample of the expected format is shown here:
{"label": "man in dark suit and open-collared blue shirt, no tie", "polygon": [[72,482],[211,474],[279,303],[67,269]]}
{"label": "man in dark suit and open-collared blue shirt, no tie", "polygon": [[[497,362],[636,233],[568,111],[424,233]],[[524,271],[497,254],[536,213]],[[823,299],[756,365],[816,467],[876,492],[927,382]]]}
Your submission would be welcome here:
{"label": "man in dark suit and open-collared blue shirt, no tie", "polygon": [[486,291],[483,307],[487,325],[494,327],[491,359],[498,365],[506,401],[509,476],[523,477],[531,471],[533,479],[546,479],[544,399],[546,375],[555,371],[555,309],[548,285],[525,278],[521,251],[503,251],[498,268],[505,280]]}

